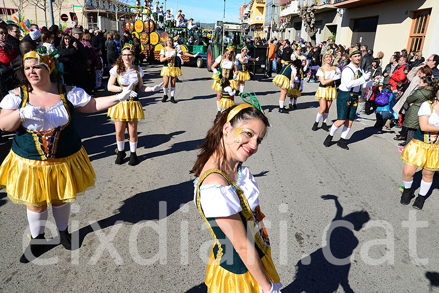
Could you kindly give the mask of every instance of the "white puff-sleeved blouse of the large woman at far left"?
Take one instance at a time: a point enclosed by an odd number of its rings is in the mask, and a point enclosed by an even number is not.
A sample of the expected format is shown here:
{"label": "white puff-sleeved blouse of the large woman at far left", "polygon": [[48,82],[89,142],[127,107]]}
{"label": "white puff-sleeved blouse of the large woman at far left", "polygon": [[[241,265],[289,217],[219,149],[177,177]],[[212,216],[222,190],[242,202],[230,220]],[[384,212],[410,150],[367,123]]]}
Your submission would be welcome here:
{"label": "white puff-sleeved blouse of the large woman at far left", "polygon": [[[69,100],[75,108],[84,107],[90,102],[91,97],[81,88],[74,87],[70,92],[67,92],[67,100]],[[65,109],[62,101],[59,101],[55,105],[42,109],[41,107],[35,107],[26,103],[24,108],[33,107],[42,113],[42,121],[35,121],[31,119],[26,119],[21,121],[21,125],[29,130],[49,130],[54,129],[69,122],[69,114]],[[21,98],[10,91],[0,102],[1,109],[17,110],[21,108]],[[73,115],[73,113],[70,113]]]}

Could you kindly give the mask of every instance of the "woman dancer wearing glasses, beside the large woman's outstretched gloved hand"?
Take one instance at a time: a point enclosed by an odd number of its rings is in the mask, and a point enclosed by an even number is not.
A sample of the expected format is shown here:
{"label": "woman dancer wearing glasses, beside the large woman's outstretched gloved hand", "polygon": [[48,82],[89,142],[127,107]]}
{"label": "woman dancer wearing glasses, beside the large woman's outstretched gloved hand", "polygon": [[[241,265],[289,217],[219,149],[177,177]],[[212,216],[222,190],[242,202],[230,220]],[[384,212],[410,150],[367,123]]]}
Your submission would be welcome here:
{"label": "woman dancer wearing glasses, beside the large woman's outstretched gloved hand", "polygon": [[[116,60],[116,64],[110,70],[110,78],[108,79],[107,88],[109,92],[122,92],[124,87],[134,84],[129,99],[111,107],[107,113],[107,116],[114,120],[114,127],[116,128],[117,156],[114,162],[116,165],[121,165],[126,157],[125,129],[127,126],[130,137],[130,161],[128,165],[134,166],[139,163],[136,154],[138,141],[137,125],[139,120],[145,118],[145,113],[137,95],[139,92],[158,91],[163,85],[163,83],[160,83],[152,88],[143,85],[143,71],[139,65],[133,64],[135,50],[132,41],[125,43],[119,58]],[[118,83],[117,85],[116,82]]]}

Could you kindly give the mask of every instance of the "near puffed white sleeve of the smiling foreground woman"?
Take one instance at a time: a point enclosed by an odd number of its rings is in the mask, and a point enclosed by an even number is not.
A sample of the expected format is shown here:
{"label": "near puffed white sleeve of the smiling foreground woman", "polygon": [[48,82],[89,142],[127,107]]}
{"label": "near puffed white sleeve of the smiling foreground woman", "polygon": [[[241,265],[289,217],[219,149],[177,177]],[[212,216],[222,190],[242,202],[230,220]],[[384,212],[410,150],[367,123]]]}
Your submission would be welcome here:
{"label": "near puffed white sleeve of the smiling foreground woman", "polygon": [[201,185],[200,204],[206,218],[228,217],[242,210],[232,186]]}

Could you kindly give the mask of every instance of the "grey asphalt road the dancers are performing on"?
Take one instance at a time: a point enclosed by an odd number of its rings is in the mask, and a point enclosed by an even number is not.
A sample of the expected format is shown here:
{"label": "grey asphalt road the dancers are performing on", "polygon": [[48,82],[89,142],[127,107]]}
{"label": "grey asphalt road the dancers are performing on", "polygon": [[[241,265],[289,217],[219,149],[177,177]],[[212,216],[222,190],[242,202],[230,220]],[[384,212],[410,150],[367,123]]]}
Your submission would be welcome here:
{"label": "grey asphalt road the dancers are performing on", "polygon": [[[115,129],[106,112],[76,115],[97,176],[95,188],[72,205],[69,228],[79,231],[80,249],[49,247],[40,264],[21,264],[26,211],[1,191],[2,292],[206,292],[213,239],[194,205],[189,170],[217,110],[211,73],[182,71],[178,104],[161,103],[161,92],[141,95],[140,165],[114,165]],[[160,66],[145,73],[144,83],[160,82]],[[354,122],[350,150],[325,148],[327,132],[311,130],[316,84],[305,83],[289,114],[278,113],[279,88],[271,79],[249,81],[246,89],[256,92],[272,124],[244,165],[259,183],[282,293],[439,292],[439,175],[422,211],[402,206],[394,130],[377,132],[374,115],[365,116]],[[334,105],[328,124],[335,118]],[[415,186],[420,178],[418,172]],[[49,221],[46,238],[56,232],[50,210]],[[335,229],[328,250],[331,223],[357,230]],[[347,261],[332,264],[329,252]]]}

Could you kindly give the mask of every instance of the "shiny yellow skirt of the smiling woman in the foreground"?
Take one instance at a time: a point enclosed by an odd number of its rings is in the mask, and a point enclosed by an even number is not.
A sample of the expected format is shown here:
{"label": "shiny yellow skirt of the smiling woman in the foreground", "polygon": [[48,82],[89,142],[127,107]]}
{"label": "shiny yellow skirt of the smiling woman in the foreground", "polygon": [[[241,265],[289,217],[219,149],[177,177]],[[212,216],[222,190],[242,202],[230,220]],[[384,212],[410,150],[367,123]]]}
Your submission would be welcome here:
{"label": "shiny yellow skirt of the smiling woman in the foreground", "polygon": [[[268,248],[267,254],[260,260],[268,278],[274,283],[280,283],[278,272],[271,258],[271,248]],[[259,284],[250,272],[233,274],[222,268],[215,260],[213,249],[207,264],[205,284],[208,288],[207,293],[260,293]]]}

